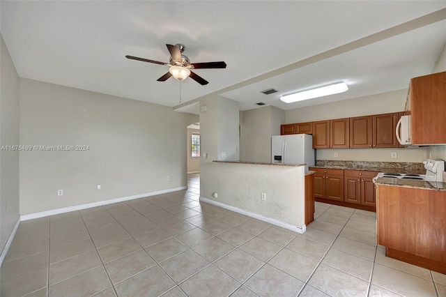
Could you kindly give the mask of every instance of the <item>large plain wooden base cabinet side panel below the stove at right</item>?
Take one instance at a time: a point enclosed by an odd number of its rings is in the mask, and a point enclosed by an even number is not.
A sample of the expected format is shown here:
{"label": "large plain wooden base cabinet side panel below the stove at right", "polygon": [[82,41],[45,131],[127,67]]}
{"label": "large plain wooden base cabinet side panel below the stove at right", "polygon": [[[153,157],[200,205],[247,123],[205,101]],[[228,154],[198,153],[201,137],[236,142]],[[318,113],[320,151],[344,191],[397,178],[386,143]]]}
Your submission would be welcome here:
{"label": "large plain wooden base cabinet side panel below the stove at right", "polygon": [[446,191],[377,185],[376,201],[386,256],[446,274]]}

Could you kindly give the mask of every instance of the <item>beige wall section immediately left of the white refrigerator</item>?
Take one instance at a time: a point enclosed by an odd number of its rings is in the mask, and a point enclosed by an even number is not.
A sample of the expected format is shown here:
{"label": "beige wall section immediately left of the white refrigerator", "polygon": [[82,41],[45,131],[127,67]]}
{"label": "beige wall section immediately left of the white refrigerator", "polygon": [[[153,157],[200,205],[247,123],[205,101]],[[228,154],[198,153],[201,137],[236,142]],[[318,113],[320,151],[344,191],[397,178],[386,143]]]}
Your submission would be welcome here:
{"label": "beige wall section immediately left of the white refrigerator", "polygon": [[271,162],[271,135],[280,135],[285,112],[266,106],[243,112],[240,124],[240,160]]}

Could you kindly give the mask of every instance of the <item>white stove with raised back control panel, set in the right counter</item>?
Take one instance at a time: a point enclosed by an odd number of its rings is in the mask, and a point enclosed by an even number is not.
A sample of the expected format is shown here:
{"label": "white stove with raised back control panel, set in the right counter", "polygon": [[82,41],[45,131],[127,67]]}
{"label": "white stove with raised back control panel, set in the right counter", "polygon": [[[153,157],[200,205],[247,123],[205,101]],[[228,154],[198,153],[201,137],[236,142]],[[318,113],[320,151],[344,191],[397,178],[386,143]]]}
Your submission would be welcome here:
{"label": "white stove with raised back control panel, set in the right counter", "polygon": [[374,177],[374,181],[378,177],[402,178],[418,181],[443,181],[443,172],[445,172],[445,161],[436,159],[427,159],[423,162],[426,168],[426,174],[396,174],[380,172]]}

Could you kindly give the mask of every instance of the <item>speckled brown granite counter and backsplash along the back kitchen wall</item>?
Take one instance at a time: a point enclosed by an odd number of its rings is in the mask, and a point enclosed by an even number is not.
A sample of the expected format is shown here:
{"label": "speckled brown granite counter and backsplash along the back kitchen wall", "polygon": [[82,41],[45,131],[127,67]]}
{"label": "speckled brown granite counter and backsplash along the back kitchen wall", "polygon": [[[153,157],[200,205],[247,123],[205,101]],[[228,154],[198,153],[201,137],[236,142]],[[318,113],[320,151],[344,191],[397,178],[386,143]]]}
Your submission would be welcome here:
{"label": "speckled brown granite counter and backsplash along the back kitchen wall", "polygon": [[385,168],[392,172],[425,174],[423,163],[413,162],[372,162],[372,161],[341,161],[341,160],[316,160],[316,166],[320,167],[348,167],[348,168],[379,168],[384,172]]}

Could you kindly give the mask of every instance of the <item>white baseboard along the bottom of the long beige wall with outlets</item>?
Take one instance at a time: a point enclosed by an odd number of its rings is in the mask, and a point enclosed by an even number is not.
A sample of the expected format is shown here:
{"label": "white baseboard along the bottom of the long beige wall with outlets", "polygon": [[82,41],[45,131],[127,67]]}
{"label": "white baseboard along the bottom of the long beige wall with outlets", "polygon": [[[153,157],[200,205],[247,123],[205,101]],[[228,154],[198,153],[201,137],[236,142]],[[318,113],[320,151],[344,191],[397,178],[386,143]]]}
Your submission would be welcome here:
{"label": "white baseboard along the bottom of the long beige wall with outlets", "polygon": [[92,207],[96,207],[96,206],[114,204],[116,202],[128,201],[128,200],[133,200],[133,199],[138,199],[138,198],[160,195],[160,194],[169,193],[169,192],[176,192],[176,191],[180,191],[180,190],[187,190],[187,186],[168,189],[168,190],[148,192],[148,193],[132,195],[132,196],[128,196],[128,197],[102,200],[102,201],[92,202],[92,203],[87,203],[87,204],[79,204],[79,205],[75,205],[75,206],[56,208],[56,209],[52,209],[50,211],[41,211],[40,213],[30,213],[28,215],[20,215],[20,220],[26,221],[26,220],[36,219],[36,218],[43,218],[43,217],[47,217],[49,215],[59,215],[59,213],[69,213],[70,211],[80,211],[81,209],[85,209],[85,208],[92,208]]}

